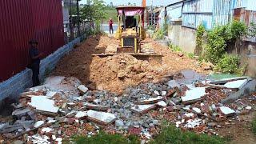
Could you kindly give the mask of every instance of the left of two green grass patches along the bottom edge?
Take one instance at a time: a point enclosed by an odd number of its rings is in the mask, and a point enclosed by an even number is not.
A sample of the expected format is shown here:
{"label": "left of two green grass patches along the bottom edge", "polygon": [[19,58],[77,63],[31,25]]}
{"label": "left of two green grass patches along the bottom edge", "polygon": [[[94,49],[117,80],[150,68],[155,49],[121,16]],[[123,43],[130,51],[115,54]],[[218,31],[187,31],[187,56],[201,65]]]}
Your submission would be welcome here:
{"label": "left of two green grass patches along the bottom edge", "polygon": [[123,137],[120,134],[106,134],[105,132],[100,132],[99,134],[96,134],[92,137],[84,137],[84,136],[75,136],[72,138],[72,142],[75,142],[76,144],[139,144],[140,141],[135,136],[129,136],[128,138]]}

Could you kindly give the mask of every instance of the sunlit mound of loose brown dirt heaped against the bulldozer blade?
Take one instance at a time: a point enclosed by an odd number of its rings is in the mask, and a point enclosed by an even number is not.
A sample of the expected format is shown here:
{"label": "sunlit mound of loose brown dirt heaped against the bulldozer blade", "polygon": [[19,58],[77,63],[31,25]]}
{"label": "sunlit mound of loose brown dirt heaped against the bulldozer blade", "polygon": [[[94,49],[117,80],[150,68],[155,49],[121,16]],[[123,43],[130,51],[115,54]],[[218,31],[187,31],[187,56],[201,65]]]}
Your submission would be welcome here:
{"label": "sunlit mound of loose brown dirt heaped against the bulldozer blade", "polygon": [[122,92],[126,86],[140,82],[158,80],[162,77],[162,66],[152,66],[128,54],[114,55],[107,58],[93,58],[90,65],[90,80],[98,90]]}

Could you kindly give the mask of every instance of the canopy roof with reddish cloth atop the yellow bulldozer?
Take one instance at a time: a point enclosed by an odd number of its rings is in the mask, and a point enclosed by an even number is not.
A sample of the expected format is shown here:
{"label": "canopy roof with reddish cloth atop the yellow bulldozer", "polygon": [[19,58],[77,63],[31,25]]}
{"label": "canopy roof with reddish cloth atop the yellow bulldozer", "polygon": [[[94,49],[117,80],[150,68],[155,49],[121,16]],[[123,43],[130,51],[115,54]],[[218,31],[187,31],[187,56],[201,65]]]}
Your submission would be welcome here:
{"label": "canopy roof with reddish cloth atop the yellow bulldozer", "polygon": [[118,14],[125,14],[126,16],[134,16],[138,14],[144,15],[145,7],[143,6],[118,6]]}

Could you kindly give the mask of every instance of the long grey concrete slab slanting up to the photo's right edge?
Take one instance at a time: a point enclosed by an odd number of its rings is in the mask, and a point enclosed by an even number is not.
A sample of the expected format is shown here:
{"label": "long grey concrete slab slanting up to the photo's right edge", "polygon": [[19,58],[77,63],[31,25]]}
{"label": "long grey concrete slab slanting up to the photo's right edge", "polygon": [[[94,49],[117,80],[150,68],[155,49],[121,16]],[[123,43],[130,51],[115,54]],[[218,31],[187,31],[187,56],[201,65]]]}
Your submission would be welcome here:
{"label": "long grey concrete slab slanting up to the photo's right edge", "polygon": [[231,93],[227,98],[222,100],[222,103],[234,102],[238,98],[242,98],[242,96],[247,96],[256,91],[256,80],[251,80],[246,83],[245,86],[242,86],[238,91]]}

